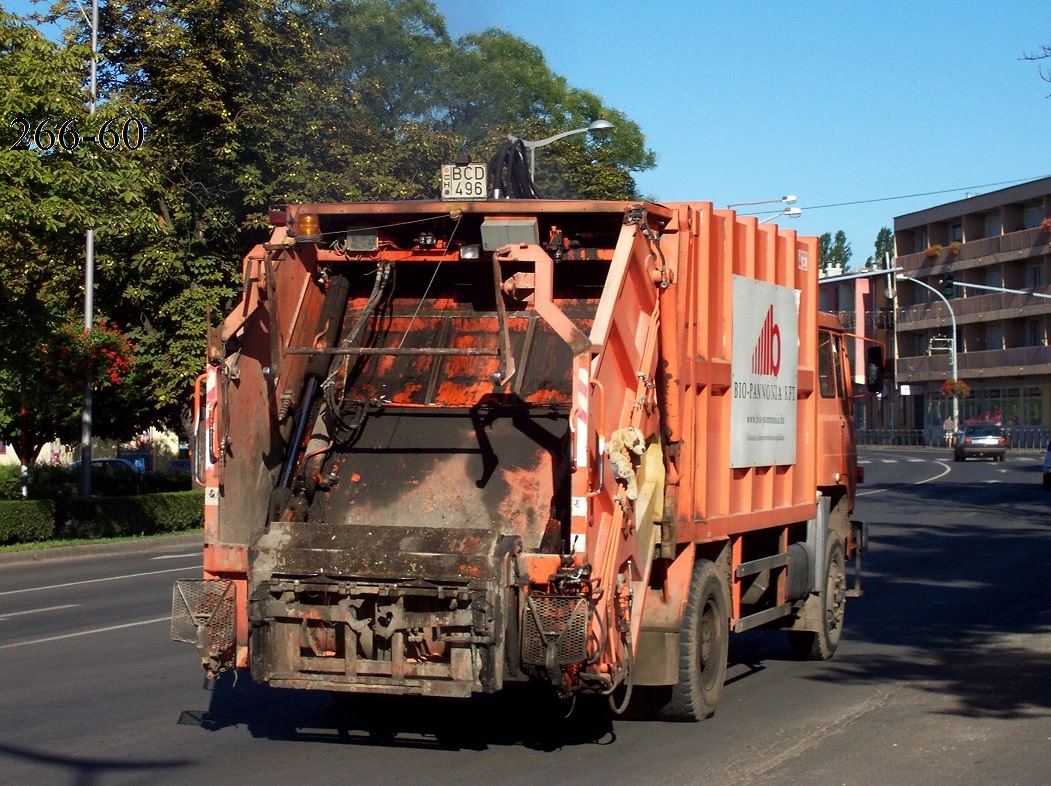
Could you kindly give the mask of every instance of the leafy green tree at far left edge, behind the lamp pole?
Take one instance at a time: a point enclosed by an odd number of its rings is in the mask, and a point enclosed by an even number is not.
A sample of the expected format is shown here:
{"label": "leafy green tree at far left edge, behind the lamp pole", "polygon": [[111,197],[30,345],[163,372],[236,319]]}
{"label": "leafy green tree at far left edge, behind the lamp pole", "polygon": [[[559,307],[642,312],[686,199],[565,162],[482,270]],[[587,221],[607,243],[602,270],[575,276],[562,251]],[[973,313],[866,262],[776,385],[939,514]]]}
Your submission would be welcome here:
{"label": "leafy green tree at far left edge, behind the lamp pole", "polygon": [[[30,456],[79,430],[84,376],[54,373],[45,348],[82,330],[85,230],[95,229],[96,269],[107,282],[96,306],[107,323],[120,320],[109,295],[128,274],[129,250],[160,234],[142,198],[150,174],[139,151],[83,139],[139,112],[118,98],[88,117],[88,55],[0,13],[0,122],[13,135],[28,128],[20,140],[28,149],[17,141],[0,149],[0,433]],[[124,388],[100,391],[100,404],[96,432],[112,436],[131,428],[143,399]]]}

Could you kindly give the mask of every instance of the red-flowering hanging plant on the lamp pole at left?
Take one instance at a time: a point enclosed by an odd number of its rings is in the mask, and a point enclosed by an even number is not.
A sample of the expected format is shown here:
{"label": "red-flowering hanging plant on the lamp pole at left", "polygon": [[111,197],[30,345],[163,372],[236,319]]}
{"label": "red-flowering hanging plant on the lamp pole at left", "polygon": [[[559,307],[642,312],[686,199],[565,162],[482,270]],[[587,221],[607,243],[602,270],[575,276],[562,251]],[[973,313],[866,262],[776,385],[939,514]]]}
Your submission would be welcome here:
{"label": "red-flowering hanging plant on the lamp pole at left", "polygon": [[135,345],[116,325],[99,323],[90,330],[68,328],[41,345],[53,379],[67,380],[91,372],[95,386],[120,385],[131,370]]}

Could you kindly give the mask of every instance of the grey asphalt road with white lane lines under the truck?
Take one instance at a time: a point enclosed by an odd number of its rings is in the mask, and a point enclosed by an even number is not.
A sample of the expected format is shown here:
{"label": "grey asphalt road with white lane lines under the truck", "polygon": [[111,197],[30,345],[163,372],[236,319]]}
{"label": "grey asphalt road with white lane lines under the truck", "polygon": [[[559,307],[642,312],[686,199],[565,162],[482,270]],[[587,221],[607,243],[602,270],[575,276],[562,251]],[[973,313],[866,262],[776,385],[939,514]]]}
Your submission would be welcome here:
{"label": "grey asphalt road with white lane lines under the truck", "polygon": [[828,663],[733,637],[699,724],[532,694],[357,700],[207,683],[168,639],[186,538],[0,562],[0,783],[1034,784],[1051,772],[1051,493],[1039,454],[863,452],[864,597]]}

